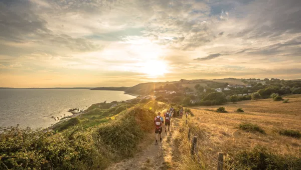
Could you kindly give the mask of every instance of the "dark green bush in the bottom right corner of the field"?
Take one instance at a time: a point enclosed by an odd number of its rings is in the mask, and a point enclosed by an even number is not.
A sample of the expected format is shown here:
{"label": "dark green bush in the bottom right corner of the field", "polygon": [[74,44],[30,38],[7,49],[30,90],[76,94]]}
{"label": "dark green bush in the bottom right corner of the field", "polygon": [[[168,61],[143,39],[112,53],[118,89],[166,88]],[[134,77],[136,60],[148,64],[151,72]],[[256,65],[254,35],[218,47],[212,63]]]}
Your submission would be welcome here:
{"label": "dark green bush in the bottom right corner of the field", "polygon": [[233,166],[237,169],[301,169],[301,158],[294,155],[276,154],[266,147],[255,146],[242,150],[234,156]]}

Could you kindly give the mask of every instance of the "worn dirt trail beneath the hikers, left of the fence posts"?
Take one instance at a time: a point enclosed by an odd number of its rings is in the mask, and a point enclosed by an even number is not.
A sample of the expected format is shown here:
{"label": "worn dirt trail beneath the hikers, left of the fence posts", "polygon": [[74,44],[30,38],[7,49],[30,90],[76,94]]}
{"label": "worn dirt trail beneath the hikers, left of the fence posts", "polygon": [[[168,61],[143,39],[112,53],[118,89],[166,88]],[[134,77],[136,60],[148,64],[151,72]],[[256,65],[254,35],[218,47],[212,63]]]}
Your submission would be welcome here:
{"label": "worn dirt trail beneath the hikers, left of the fence posts", "polygon": [[[174,156],[173,150],[175,149],[174,139],[179,135],[179,121],[180,119],[174,118],[172,121],[173,130],[162,132],[162,142],[155,145],[155,133],[150,138],[149,142],[143,142],[143,144],[148,143],[148,145],[140,152],[138,152],[134,157],[125,159],[121,162],[112,164],[107,168],[107,170],[116,169],[173,169]],[[151,142],[152,141],[152,142]],[[151,142],[151,143],[150,143]]]}

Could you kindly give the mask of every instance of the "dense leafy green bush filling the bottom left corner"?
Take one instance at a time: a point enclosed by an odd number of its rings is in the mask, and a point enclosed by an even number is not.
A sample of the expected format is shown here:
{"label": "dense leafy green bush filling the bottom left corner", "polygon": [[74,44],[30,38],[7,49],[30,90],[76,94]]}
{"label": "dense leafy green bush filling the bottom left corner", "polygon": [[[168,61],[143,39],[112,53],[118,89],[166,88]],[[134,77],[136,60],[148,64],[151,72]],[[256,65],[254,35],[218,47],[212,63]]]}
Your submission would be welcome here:
{"label": "dense leafy green bush filling the bottom left corner", "polygon": [[0,128],[0,169],[104,169],[108,150],[100,152],[99,138],[91,130],[66,133],[31,128]]}

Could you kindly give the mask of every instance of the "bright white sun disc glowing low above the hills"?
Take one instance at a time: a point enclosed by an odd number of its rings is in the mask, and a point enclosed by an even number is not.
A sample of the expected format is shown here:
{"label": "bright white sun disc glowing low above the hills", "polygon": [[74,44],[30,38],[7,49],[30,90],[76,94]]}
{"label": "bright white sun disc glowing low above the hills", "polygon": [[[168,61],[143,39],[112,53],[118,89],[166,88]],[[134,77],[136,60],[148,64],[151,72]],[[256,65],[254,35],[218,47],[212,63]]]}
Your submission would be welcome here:
{"label": "bright white sun disc glowing low above the hills", "polygon": [[142,72],[149,77],[163,76],[167,73],[167,65],[161,60],[149,60],[142,65]]}

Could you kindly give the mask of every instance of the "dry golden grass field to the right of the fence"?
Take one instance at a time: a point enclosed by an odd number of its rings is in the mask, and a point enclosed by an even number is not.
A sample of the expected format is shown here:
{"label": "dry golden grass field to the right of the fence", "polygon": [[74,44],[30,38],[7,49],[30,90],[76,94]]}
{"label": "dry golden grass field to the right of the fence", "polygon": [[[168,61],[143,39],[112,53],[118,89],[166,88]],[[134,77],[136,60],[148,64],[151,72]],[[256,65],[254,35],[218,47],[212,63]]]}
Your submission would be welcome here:
{"label": "dry golden grass field to the right of the fence", "polygon": [[[195,115],[192,117],[194,125],[199,128],[199,150],[206,169],[216,168],[216,160],[211,155],[217,156],[217,152],[225,153],[225,162],[229,164],[226,169],[231,169],[233,159],[236,159],[234,155],[258,146],[279,156],[290,155],[300,163],[301,138],[280,135],[280,130],[284,130],[284,134],[286,131],[292,134],[301,131],[301,95],[285,98],[289,98],[288,103],[269,98],[219,105],[225,107],[227,113],[215,112],[219,106],[191,107]],[[237,108],[242,108],[244,112],[236,112]],[[263,131],[256,131],[255,126]]]}

